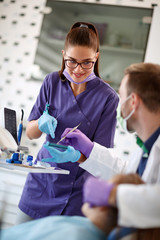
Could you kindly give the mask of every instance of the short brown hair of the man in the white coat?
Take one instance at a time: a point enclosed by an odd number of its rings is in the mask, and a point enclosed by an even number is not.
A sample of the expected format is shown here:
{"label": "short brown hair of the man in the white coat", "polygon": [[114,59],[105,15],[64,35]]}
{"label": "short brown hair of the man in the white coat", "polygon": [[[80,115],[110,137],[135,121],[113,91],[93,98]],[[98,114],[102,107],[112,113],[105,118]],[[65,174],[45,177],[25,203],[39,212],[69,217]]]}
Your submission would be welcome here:
{"label": "short brown hair of the man in the white coat", "polygon": [[125,69],[128,74],[128,95],[135,92],[152,112],[160,111],[160,65],[152,63],[132,64]]}

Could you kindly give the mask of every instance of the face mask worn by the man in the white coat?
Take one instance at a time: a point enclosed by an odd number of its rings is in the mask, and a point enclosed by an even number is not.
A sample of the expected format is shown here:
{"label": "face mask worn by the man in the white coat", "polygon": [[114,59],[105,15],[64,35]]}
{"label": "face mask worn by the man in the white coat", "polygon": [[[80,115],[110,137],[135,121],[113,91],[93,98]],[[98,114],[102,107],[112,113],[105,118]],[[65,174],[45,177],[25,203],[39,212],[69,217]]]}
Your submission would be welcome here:
{"label": "face mask worn by the man in the white coat", "polygon": [[123,130],[125,130],[125,131],[128,131],[128,129],[127,129],[127,120],[133,115],[133,113],[135,112],[135,109],[133,109],[127,117],[123,118],[123,117],[121,116],[121,107],[122,107],[122,105],[123,105],[125,102],[127,102],[128,99],[130,99],[130,98],[131,98],[131,95],[129,95],[129,96],[123,101],[122,104],[118,104],[118,108],[117,108],[117,120],[118,120],[118,122],[120,123],[120,125],[122,126]]}

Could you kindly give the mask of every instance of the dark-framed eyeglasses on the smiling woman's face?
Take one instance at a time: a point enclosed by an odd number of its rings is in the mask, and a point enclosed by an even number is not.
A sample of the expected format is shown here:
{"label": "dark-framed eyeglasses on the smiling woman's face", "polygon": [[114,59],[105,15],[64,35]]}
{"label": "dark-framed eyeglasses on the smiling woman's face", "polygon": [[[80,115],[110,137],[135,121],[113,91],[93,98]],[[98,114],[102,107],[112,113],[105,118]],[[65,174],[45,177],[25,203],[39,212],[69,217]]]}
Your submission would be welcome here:
{"label": "dark-framed eyeglasses on the smiling woman's face", "polygon": [[83,69],[91,69],[95,63],[92,61],[85,61],[85,62],[78,63],[75,60],[71,60],[71,59],[65,59],[64,62],[67,67],[72,68],[72,69],[78,67],[78,65],[80,65],[81,68],[83,68]]}

